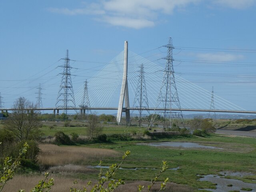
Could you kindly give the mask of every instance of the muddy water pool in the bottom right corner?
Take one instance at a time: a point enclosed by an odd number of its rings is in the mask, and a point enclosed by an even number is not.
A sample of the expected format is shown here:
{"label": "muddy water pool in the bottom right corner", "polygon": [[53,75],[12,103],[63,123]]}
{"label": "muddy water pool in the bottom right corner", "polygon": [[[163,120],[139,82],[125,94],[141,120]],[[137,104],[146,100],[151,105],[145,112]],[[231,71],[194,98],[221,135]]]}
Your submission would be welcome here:
{"label": "muddy water pool in the bottom right corner", "polygon": [[204,189],[212,192],[228,192],[228,191],[240,191],[242,188],[250,188],[251,192],[256,192],[256,184],[245,183],[237,179],[226,179],[216,175],[206,175],[204,178],[200,178],[200,181],[209,181],[216,183],[216,189]]}

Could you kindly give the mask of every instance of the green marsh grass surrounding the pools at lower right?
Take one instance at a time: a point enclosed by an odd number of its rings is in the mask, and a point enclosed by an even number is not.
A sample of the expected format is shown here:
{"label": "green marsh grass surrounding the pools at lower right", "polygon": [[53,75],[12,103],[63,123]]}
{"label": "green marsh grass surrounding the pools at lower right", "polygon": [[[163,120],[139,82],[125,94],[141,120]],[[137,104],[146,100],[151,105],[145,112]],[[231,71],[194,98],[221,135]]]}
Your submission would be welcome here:
{"label": "green marsh grass surrounding the pools at lower right", "polygon": [[[198,175],[218,174],[220,171],[253,172],[256,159],[256,139],[245,137],[227,137],[213,134],[210,138],[184,138],[172,139],[173,141],[220,143],[225,150],[185,149],[185,148],[159,148],[135,143],[117,143],[104,145],[89,145],[97,148],[109,148],[119,152],[131,151],[125,160],[124,168],[159,168],[162,160],[167,160],[170,168],[179,167],[178,170],[167,170],[160,178],[169,177],[171,182],[188,184],[195,188],[216,188],[215,184],[199,181]],[[250,147],[244,152],[244,146]],[[235,152],[233,152],[235,148]],[[240,150],[238,150],[240,149]],[[239,152],[236,152],[239,151]],[[105,159],[103,165],[111,165],[119,160]],[[125,180],[150,180],[157,170],[118,170],[116,178]],[[247,181],[249,178],[238,178]],[[250,177],[252,183],[256,178]]]}

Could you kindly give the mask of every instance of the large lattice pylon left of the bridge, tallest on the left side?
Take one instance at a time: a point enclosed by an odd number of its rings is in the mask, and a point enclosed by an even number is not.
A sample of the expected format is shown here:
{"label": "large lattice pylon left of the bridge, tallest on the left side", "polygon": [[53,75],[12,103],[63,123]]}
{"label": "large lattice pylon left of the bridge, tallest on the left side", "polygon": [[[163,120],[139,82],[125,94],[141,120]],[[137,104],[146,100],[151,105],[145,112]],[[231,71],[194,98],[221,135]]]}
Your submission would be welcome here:
{"label": "large lattice pylon left of the bridge, tallest on the left side", "polygon": [[72,86],[71,80],[71,73],[69,62],[69,54],[68,50],[66,52],[66,58],[62,58],[65,61],[64,65],[60,66],[63,68],[62,80],[60,84],[60,90],[58,92],[58,97],[56,100],[55,107],[63,109],[63,112],[67,114],[67,109],[76,108],[75,98],[74,98],[74,91]]}

